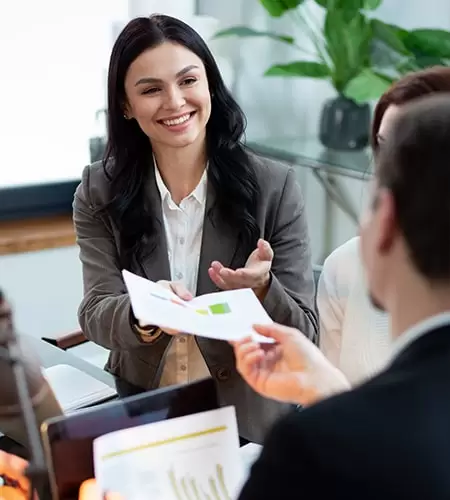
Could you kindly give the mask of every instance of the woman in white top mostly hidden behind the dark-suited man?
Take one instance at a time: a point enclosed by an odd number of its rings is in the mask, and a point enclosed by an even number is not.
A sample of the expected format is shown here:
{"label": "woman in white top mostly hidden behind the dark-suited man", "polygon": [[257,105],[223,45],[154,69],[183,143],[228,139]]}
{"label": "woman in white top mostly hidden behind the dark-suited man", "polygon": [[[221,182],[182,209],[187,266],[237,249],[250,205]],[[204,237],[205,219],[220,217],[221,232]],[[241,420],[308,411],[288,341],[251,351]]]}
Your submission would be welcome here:
{"label": "woman in white top mostly hidden behind the dark-suited man", "polygon": [[[380,98],[372,124],[377,153],[403,104],[434,92],[450,92],[450,68],[433,67],[406,75]],[[319,279],[317,308],[320,349],[355,384],[381,369],[389,356],[387,316],[369,301],[359,256],[359,237],[337,248]]]}

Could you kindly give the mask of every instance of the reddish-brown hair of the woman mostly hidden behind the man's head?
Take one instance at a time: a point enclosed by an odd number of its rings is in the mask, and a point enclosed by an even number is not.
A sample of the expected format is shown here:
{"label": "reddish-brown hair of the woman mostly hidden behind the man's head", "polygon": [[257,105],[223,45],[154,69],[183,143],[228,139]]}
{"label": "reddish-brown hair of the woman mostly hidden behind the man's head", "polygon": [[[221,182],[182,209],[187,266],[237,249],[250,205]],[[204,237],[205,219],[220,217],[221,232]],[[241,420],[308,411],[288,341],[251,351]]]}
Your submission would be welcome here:
{"label": "reddish-brown hair of the woman mostly hidden behind the man's head", "polygon": [[450,92],[450,68],[432,66],[405,75],[389,87],[380,97],[372,121],[371,142],[374,152],[378,150],[378,132],[384,113],[391,105],[402,106],[420,97],[435,92]]}

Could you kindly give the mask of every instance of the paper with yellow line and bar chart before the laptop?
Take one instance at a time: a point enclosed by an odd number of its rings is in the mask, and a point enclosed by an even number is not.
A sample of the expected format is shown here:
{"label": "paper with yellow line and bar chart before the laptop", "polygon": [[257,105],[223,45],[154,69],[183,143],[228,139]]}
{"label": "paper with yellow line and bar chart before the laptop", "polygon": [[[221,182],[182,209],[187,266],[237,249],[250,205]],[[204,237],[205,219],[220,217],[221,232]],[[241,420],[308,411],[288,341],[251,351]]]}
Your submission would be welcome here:
{"label": "paper with yellow line and bar chart before the laptop", "polygon": [[234,500],[246,477],[234,407],[113,432],[93,447],[102,492],[129,500]]}

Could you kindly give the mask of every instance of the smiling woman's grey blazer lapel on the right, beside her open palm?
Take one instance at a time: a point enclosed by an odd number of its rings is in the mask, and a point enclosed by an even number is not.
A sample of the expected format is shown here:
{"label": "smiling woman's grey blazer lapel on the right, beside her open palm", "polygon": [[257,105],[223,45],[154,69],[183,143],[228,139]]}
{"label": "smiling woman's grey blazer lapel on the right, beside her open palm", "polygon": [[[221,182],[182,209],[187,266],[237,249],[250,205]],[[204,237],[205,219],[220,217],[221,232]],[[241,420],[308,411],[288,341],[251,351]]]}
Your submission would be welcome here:
{"label": "smiling woman's grey blazer lapel on the right, beside her open palm", "polygon": [[238,230],[230,227],[220,217],[215,201],[214,188],[208,181],[202,246],[198,266],[197,295],[219,290],[208,274],[211,262],[217,260],[224,266],[230,267],[238,247]]}

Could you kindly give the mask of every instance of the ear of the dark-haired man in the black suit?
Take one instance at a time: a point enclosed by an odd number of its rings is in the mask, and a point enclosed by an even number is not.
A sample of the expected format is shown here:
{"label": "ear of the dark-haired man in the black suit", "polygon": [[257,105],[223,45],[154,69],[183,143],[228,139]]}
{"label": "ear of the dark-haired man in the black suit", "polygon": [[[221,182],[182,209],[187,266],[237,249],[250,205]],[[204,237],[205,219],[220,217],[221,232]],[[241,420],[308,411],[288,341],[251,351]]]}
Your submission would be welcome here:
{"label": "ear of the dark-haired man in the black suit", "polygon": [[397,235],[397,214],[392,192],[379,190],[376,201],[377,247],[380,253],[391,251]]}

